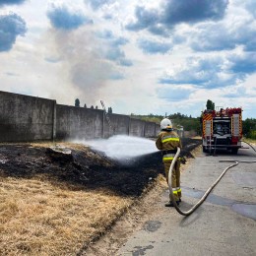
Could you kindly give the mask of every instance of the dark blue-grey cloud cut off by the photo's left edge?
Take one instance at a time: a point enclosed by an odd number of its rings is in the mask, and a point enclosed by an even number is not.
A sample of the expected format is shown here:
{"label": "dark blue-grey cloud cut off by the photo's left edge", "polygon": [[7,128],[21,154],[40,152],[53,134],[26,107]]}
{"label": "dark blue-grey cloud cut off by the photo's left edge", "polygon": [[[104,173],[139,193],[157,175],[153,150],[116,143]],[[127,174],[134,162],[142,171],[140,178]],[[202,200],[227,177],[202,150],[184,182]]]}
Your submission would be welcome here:
{"label": "dark blue-grey cloud cut off by the photo's left edge", "polygon": [[0,16],[0,51],[9,51],[17,36],[23,36],[26,32],[26,22],[17,14]]}

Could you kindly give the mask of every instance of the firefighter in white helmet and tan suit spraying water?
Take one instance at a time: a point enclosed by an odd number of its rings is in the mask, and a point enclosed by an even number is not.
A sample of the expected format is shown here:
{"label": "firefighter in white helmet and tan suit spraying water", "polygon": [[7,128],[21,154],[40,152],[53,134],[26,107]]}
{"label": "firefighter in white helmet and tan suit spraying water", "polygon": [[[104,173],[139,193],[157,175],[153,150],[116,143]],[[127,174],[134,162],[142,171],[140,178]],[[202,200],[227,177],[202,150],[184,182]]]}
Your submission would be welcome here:
{"label": "firefighter in white helmet and tan suit spraying water", "polygon": [[[177,147],[182,148],[181,141],[172,129],[171,121],[168,118],[163,118],[160,122],[160,135],[156,142],[157,148],[162,153],[162,161],[164,165],[165,177],[168,183],[168,171],[176,152]],[[171,173],[171,187],[177,205],[181,202],[181,189],[180,189],[180,160],[174,164]],[[169,202],[165,207],[173,207],[172,199],[169,194]]]}

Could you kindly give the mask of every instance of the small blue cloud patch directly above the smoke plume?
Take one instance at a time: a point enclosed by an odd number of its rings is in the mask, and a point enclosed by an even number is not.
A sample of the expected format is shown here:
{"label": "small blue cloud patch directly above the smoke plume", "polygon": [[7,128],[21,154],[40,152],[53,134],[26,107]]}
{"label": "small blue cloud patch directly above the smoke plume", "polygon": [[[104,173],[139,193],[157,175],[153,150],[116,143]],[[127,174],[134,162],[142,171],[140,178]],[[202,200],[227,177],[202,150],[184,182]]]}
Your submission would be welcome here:
{"label": "small blue cloud patch directly above the smoke plume", "polygon": [[68,10],[65,6],[52,6],[47,12],[51,25],[55,29],[76,30],[83,25],[93,24],[94,22],[77,11]]}

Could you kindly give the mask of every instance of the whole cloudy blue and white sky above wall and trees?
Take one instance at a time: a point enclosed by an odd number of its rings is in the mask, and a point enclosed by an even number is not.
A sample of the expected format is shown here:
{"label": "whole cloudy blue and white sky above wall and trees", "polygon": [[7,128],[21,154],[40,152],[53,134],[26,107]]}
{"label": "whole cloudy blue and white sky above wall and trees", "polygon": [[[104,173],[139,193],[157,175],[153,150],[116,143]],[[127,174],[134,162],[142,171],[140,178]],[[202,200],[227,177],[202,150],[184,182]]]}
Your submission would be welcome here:
{"label": "whole cloudy blue and white sky above wall and trees", "polygon": [[256,118],[255,0],[0,0],[0,91],[119,114]]}

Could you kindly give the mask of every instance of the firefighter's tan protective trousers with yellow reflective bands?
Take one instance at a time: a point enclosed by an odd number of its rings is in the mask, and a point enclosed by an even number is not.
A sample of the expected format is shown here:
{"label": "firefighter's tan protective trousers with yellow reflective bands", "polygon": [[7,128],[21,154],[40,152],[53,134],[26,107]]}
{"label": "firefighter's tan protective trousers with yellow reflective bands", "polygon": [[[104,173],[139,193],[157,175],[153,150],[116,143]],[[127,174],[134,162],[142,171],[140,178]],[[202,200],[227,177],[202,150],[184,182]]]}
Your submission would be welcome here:
{"label": "firefighter's tan protective trousers with yellow reflective bands", "polygon": [[[172,160],[163,160],[164,164],[164,171],[165,171],[165,177],[166,181],[168,183],[168,173],[169,173],[169,167]],[[171,173],[171,187],[172,187],[172,193],[175,197],[175,201],[179,201],[181,198],[181,188],[180,188],[180,160],[177,160],[173,166],[172,173]],[[171,202],[171,196],[169,194],[169,201]]]}

